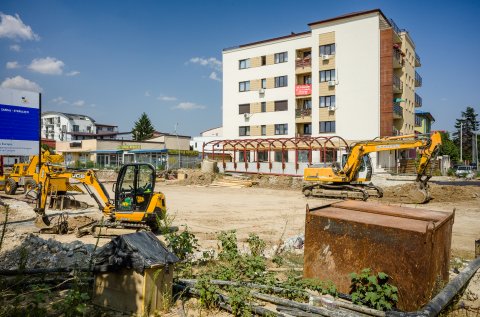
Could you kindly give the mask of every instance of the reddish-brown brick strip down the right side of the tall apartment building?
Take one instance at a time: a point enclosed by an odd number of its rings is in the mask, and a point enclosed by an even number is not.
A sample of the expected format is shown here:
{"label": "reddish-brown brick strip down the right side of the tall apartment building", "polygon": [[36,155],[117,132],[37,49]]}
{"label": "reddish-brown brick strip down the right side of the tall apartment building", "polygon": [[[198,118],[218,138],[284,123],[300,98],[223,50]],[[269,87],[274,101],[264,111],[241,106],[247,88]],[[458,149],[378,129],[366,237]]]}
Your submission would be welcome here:
{"label": "reddish-brown brick strip down the right side of the tall apartment building", "polygon": [[393,135],[393,30],[380,31],[380,136]]}

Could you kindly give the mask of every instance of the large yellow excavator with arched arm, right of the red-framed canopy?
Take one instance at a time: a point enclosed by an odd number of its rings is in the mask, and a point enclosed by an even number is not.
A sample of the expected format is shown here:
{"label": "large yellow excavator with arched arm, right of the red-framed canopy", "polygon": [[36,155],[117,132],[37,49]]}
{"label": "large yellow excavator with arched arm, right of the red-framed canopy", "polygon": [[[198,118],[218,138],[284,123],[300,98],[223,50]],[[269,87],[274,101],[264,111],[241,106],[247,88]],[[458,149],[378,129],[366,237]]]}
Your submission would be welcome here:
{"label": "large yellow excavator with arched arm, right of the red-framed canopy", "polygon": [[421,156],[417,166],[416,189],[410,191],[407,196],[412,203],[425,203],[430,200],[427,182],[431,175],[427,175],[427,165],[436,157],[441,144],[439,132],[432,133],[430,138],[412,134],[357,142],[350,147],[343,166],[335,162],[331,166],[313,165],[305,168],[304,181],[314,184],[305,185],[302,189],[303,194],[362,200],[367,200],[369,196],[382,197],[382,189],[370,182],[372,164],[368,154],[419,148]]}

